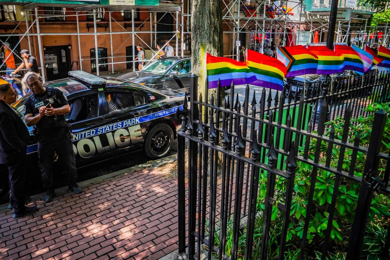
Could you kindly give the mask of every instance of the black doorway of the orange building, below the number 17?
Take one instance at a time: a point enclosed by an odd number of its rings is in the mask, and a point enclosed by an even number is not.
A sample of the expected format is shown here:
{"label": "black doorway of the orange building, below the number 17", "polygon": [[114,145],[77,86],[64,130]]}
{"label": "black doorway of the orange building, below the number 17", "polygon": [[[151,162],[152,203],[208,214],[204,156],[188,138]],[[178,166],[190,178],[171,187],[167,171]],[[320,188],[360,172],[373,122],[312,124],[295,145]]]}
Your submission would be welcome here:
{"label": "black doorway of the orange building, below the number 17", "polygon": [[45,68],[48,80],[66,78],[71,70],[67,45],[44,47]]}

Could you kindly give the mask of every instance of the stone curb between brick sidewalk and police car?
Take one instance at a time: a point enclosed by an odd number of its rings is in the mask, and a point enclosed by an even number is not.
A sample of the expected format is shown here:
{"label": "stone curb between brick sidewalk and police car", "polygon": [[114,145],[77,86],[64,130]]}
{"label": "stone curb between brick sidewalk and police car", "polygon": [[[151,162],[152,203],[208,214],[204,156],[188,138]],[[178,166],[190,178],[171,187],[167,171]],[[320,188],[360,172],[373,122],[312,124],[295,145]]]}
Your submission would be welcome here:
{"label": "stone curb between brick sidewalk and police car", "polygon": [[[78,186],[80,186],[82,188],[85,188],[85,187],[88,187],[90,185],[97,184],[99,182],[115,179],[115,177],[117,177],[119,175],[122,175],[122,174],[125,174],[125,173],[137,172],[138,170],[144,169],[146,167],[150,167],[151,169],[154,169],[154,168],[157,168],[158,166],[161,166],[161,165],[163,165],[165,163],[172,163],[172,162],[174,162],[176,160],[177,160],[177,154],[172,154],[170,156],[167,156],[167,157],[164,157],[164,158],[160,158],[160,159],[157,159],[157,160],[154,160],[154,161],[150,161],[148,163],[139,164],[139,165],[136,165],[136,166],[133,166],[133,167],[130,167],[130,168],[125,168],[125,169],[119,170],[117,172],[112,172],[112,173],[101,175],[99,177],[95,177],[95,178],[92,178],[92,179],[89,179],[89,180],[84,180],[82,182],[78,182],[77,184],[78,184]],[[68,192],[69,191],[67,191],[67,186],[55,189],[56,196],[64,195],[64,194],[66,194]],[[31,197],[31,202],[36,202],[36,201],[39,201],[39,200],[43,200],[44,196],[46,196],[46,192],[30,196]],[[31,203],[31,202],[29,202],[29,203]],[[8,206],[8,203],[0,205],[0,210],[8,209],[7,206]]]}

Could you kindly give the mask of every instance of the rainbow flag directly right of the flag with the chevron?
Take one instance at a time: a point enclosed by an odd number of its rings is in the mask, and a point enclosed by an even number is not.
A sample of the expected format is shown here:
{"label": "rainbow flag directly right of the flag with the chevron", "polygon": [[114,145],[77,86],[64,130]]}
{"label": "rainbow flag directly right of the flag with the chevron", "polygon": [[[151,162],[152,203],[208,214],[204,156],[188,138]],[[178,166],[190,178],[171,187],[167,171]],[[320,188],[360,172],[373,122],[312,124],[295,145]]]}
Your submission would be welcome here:
{"label": "rainbow flag directly right of the flag with the chevron", "polygon": [[307,46],[307,49],[318,57],[316,74],[341,73],[344,70],[344,56],[325,46]]}

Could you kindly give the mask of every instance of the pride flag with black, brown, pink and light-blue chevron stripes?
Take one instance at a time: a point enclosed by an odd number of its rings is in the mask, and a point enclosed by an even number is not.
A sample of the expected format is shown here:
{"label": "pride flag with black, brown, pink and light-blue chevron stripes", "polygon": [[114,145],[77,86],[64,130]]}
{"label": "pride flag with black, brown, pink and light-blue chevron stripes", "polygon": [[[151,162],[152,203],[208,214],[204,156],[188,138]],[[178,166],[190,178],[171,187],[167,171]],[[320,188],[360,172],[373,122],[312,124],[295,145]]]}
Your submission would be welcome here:
{"label": "pride flag with black, brown, pink and light-blue chevron stripes", "polygon": [[286,66],[286,77],[316,74],[317,72],[317,56],[302,45],[279,47],[277,58]]}

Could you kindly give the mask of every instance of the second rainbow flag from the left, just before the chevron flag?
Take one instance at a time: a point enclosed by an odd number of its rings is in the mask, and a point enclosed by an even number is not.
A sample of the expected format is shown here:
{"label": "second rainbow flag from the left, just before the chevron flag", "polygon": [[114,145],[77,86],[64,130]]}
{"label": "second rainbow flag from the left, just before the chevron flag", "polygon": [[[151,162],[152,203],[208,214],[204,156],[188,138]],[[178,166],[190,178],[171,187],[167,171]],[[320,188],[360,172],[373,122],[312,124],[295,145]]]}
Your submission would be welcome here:
{"label": "second rainbow flag from the left, just before the chevron flag", "polygon": [[247,50],[246,56],[246,65],[256,77],[250,84],[283,90],[283,79],[287,70],[282,62],[252,50]]}

